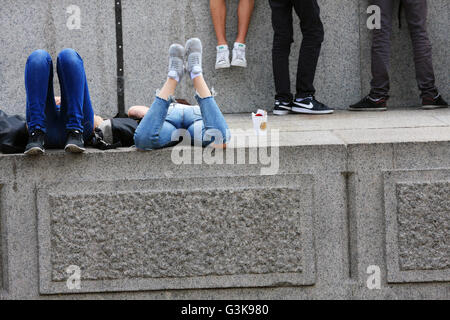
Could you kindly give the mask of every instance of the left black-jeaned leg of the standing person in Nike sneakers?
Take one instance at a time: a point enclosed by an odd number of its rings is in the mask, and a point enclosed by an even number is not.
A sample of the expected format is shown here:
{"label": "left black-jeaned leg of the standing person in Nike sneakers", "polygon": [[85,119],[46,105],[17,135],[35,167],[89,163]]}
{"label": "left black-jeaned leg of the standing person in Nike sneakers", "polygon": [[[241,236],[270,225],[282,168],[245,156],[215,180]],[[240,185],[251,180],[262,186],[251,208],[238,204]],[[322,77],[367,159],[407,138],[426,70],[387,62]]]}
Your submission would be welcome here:
{"label": "left black-jeaned leg of the standing person in Nike sneakers", "polygon": [[269,0],[272,9],[274,30],[272,64],[275,80],[275,99],[290,103],[292,101],[289,75],[289,55],[294,42],[291,0]]}

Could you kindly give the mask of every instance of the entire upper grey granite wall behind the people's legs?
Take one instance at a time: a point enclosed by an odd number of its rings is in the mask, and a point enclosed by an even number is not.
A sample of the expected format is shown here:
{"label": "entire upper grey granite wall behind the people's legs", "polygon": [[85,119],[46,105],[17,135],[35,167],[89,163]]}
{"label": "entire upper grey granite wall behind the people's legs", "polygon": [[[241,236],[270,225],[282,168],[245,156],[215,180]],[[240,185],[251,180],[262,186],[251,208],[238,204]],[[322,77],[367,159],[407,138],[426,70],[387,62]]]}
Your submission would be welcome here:
{"label": "entire upper grey granite wall behind the people's legs", "polygon": [[[318,98],[344,109],[369,90],[370,35],[366,28],[367,0],[319,1],[326,28],[326,40],[319,62],[316,86]],[[68,21],[80,9],[80,29]],[[218,92],[217,100],[226,113],[270,109],[274,95],[271,68],[272,28],[267,1],[256,1],[248,39],[248,69],[216,71],[215,35],[208,1],[122,0],[125,58],[126,108],[151,104],[155,91],[166,75],[167,49],[172,42],[184,43],[200,37],[205,47],[205,74]],[[429,31],[435,47],[434,61],[438,86],[449,90],[449,29],[446,0],[429,1]],[[234,12],[237,1],[230,1],[228,39],[236,35]],[[46,49],[56,60],[57,53],[73,47],[84,57],[93,104],[97,113],[117,113],[115,2],[112,0],[3,0],[0,10],[0,108],[24,113],[23,69],[27,56],[35,49]],[[296,24],[298,20],[295,20]],[[293,52],[301,41],[296,29]],[[419,103],[414,65],[407,28],[394,30],[392,67],[392,106]],[[296,70],[292,58],[292,79]],[[57,80],[55,80],[57,84]],[[58,86],[57,86],[58,87]],[[58,89],[56,89],[58,92]],[[191,101],[188,82],[177,95]]]}

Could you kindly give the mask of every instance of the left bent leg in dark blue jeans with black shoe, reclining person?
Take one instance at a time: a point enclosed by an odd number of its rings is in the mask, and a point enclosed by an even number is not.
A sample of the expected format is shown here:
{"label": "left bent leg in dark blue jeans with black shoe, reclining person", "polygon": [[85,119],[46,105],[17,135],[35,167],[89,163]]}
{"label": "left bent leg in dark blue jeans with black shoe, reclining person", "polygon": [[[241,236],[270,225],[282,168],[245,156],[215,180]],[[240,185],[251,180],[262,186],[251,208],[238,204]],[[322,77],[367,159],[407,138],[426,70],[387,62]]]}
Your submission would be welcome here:
{"label": "left bent leg in dark blue jeans with black shoe, reclining person", "polygon": [[47,122],[56,118],[53,94],[53,62],[44,50],[33,52],[25,67],[25,90],[27,94],[27,126],[29,141],[27,155],[44,153]]}

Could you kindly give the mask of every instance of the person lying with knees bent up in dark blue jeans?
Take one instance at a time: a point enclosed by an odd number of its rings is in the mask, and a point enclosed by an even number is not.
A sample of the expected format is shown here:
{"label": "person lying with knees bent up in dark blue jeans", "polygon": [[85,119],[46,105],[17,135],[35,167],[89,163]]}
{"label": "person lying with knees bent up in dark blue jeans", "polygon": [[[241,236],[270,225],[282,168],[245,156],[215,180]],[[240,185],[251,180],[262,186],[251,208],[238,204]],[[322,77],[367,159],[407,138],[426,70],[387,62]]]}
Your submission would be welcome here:
{"label": "person lying with knees bent up in dark blue jeans", "polygon": [[[25,154],[40,155],[48,149],[82,153],[85,146],[107,150],[130,147],[138,122],[94,115],[83,60],[73,49],[58,55],[61,97],[53,93],[53,62],[44,50],[33,52],[25,68],[27,93]],[[20,146],[18,146],[20,149]]]}

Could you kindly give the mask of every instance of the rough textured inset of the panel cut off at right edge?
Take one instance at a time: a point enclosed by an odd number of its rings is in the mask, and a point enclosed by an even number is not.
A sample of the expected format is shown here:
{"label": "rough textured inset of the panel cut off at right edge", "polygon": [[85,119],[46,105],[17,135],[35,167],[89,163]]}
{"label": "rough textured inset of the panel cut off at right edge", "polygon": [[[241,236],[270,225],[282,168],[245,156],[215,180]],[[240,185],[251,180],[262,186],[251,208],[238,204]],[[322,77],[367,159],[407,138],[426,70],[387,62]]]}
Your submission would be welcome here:
{"label": "rough textured inset of the panel cut off at right edge", "polygon": [[401,270],[450,269],[450,182],[398,184]]}

